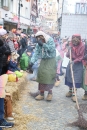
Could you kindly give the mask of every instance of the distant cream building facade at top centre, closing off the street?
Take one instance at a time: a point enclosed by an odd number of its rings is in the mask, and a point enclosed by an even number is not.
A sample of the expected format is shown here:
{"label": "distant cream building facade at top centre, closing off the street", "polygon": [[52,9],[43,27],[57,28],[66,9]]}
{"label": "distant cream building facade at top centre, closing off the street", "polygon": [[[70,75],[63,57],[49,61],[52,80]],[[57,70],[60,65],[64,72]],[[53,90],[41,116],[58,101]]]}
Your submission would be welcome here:
{"label": "distant cream building facade at top centre, closing off the street", "polygon": [[[54,8],[55,7],[55,8]],[[38,0],[38,15],[41,29],[49,33],[57,33],[57,0]]]}

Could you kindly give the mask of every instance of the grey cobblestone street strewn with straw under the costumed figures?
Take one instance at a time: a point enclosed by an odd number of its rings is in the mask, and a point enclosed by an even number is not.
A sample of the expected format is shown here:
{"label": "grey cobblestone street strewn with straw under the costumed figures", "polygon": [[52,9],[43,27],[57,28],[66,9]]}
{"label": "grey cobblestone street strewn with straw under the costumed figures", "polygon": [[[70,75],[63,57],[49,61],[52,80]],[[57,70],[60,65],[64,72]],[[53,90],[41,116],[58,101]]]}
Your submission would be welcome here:
{"label": "grey cobblestone street strewn with straw under the costumed figures", "polygon": [[[66,98],[65,94],[68,91],[68,87],[64,85],[64,76],[61,77],[61,85],[54,87],[53,100],[47,102],[36,101],[29,94],[25,93],[25,105],[22,106],[24,114],[33,114],[38,117],[40,121],[31,121],[27,124],[28,130],[83,130],[78,127],[67,126],[68,123],[73,122],[77,118],[76,104],[72,102],[71,98]],[[36,82],[30,82],[28,84],[28,90],[36,92],[38,84]],[[78,90],[79,103],[86,103],[82,101],[84,91]],[[46,97],[47,93],[45,93]],[[30,104],[30,105],[29,105]]]}

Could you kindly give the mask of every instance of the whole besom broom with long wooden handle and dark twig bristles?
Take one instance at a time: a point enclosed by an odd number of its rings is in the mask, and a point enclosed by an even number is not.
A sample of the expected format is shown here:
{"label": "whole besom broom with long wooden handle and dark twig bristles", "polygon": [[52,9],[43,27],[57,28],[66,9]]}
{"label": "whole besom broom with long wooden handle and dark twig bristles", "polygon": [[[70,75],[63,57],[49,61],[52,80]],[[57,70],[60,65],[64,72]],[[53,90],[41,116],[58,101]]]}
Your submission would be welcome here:
{"label": "whole besom broom with long wooden handle and dark twig bristles", "polygon": [[75,98],[76,98],[76,106],[77,106],[77,111],[78,111],[78,120],[70,123],[69,125],[71,126],[78,126],[80,128],[87,128],[87,120],[84,119],[82,110],[80,109],[78,99],[77,99],[77,94],[76,94],[76,87],[75,87],[75,80],[74,80],[74,73],[73,73],[73,67],[72,67],[72,54],[71,54],[71,48],[70,48],[70,69],[71,69],[71,76],[72,76],[72,82],[73,82],[73,89],[75,93]]}

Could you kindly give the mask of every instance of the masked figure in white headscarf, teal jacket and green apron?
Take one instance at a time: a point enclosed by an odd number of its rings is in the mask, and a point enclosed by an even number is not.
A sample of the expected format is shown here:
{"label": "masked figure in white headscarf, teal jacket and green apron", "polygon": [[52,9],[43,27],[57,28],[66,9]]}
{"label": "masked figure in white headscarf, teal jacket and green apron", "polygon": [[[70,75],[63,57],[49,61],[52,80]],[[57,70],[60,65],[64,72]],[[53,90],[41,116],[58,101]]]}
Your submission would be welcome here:
{"label": "masked figure in white headscarf, teal jacket and green apron", "polygon": [[37,82],[39,83],[38,89],[40,94],[35,97],[36,100],[44,99],[44,91],[48,91],[47,100],[52,100],[52,88],[55,83],[56,77],[56,49],[54,40],[42,31],[35,35],[37,45],[35,53],[31,58],[30,67],[38,60],[41,59],[38,68]]}

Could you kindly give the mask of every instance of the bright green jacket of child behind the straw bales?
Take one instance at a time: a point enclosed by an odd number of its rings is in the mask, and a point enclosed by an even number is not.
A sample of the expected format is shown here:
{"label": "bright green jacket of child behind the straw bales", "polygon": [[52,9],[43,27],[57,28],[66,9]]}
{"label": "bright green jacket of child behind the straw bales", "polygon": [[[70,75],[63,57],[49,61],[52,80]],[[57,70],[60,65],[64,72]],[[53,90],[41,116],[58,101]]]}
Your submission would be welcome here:
{"label": "bright green jacket of child behind the straw bales", "polygon": [[22,70],[26,70],[28,68],[30,62],[30,58],[26,53],[22,54],[22,57],[20,58],[20,68]]}

